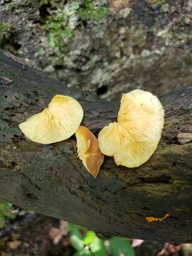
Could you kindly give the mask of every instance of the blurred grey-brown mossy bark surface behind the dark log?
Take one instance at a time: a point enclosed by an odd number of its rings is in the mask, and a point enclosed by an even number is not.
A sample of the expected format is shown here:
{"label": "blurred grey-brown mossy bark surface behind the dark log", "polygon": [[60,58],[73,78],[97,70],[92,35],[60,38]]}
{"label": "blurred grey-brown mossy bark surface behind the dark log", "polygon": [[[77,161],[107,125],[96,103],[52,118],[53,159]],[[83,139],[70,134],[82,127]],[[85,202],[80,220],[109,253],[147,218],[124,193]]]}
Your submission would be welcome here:
{"label": "blurred grey-brown mossy bark surface behind the dark log", "polygon": [[12,51],[69,87],[112,100],[192,80],[191,0],[0,3],[0,21],[15,28]]}

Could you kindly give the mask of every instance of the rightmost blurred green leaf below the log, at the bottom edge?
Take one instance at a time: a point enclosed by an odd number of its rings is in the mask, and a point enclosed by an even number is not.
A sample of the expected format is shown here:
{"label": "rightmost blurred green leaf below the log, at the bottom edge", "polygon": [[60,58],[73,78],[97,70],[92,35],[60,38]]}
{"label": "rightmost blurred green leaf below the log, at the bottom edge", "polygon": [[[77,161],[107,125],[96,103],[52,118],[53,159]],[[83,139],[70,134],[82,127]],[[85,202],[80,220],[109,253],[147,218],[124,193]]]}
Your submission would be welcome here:
{"label": "rightmost blurred green leaf below the log, at the bottom edge", "polygon": [[111,238],[110,250],[112,252],[112,256],[135,256],[134,249],[126,238]]}

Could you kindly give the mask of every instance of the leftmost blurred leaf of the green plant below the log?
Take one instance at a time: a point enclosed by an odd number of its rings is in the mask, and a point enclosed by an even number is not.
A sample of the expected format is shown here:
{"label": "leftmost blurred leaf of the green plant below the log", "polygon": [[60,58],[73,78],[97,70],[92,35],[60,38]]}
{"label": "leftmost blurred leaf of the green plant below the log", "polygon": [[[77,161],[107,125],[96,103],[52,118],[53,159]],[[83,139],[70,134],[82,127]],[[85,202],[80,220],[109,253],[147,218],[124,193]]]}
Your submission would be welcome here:
{"label": "leftmost blurred leaf of the green plant below the log", "polygon": [[70,244],[75,248],[75,250],[82,250],[84,248],[84,243],[82,242],[82,235],[78,226],[69,224],[68,231],[70,232]]}

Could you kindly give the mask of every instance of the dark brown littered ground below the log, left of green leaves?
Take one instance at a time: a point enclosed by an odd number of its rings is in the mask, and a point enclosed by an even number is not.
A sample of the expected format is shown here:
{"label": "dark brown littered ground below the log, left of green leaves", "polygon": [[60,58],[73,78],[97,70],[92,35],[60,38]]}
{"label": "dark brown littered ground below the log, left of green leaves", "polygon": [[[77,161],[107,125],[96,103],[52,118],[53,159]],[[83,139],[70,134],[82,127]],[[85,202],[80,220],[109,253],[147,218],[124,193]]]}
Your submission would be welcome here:
{"label": "dark brown littered ground below the log, left of green leaves", "polygon": [[[9,223],[9,225],[13,225],[13,223]],[[59,226],[59,220],[36,215],[26,225],[18,226],[16,230],[1,238],[0,255],[73,255],[75,250],[70,246],[70,236],[68,233],[64,233],[64,229],[61,233]],[[55,238],[57,238],[56,241]]]}

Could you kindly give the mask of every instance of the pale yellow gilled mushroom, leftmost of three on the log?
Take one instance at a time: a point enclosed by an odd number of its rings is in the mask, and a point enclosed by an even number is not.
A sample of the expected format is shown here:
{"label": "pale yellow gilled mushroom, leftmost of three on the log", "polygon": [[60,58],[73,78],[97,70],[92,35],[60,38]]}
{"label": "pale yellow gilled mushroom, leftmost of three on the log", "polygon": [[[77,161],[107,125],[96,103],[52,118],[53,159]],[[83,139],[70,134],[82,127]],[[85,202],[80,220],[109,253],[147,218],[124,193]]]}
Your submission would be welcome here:
{"label": "pale yellow gilled mushroom, leftmost of three on the log", "polygon": [[80,103],[65,95],[55,95],[48,108],[19,124],[33,142],[50,144],[68,139],[80,126],[83,110]]}

